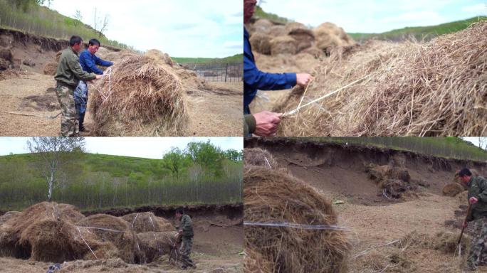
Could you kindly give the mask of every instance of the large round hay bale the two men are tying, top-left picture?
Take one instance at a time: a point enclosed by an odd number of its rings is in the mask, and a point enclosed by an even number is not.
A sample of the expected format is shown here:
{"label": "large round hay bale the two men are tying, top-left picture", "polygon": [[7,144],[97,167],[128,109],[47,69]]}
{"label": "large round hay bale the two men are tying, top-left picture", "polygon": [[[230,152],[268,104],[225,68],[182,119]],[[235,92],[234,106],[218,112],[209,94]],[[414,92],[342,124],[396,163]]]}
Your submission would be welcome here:
{"label": "large round hay bale the two men are tying, top-left picture", "polygon": [[[173,70],[127,53],[95,85],[91,105],[98,136],[182,136],[187,97]],[[111,88],[111,92],[109,92]]]}

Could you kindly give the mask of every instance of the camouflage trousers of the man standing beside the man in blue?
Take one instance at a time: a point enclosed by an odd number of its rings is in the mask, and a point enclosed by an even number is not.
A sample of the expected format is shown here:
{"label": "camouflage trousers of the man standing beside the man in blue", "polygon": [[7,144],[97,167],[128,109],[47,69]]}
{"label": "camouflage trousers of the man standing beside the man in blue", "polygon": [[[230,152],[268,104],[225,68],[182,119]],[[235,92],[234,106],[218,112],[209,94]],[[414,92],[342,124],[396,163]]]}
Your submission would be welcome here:
{"label": "camouflage trousers of the man standing beside the man in blue", "polygon": [[78,112],[75,107],[74,88],[56,85],[56,95],[61,105],[61,136],[78,137]]}

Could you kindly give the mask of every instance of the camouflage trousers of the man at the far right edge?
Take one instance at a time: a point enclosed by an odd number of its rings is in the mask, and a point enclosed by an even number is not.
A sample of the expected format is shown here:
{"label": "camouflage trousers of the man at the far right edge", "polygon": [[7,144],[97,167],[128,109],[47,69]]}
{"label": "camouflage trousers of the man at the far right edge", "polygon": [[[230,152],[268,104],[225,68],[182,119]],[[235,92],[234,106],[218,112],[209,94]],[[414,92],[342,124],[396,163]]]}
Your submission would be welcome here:
{"label": "camouflage trousers of the man at the far right edge", "polygon": [[473,223],[472,244],[466,261],[467,269],[476,270],[479,264],[487,264],[487,218],[478,218]]}

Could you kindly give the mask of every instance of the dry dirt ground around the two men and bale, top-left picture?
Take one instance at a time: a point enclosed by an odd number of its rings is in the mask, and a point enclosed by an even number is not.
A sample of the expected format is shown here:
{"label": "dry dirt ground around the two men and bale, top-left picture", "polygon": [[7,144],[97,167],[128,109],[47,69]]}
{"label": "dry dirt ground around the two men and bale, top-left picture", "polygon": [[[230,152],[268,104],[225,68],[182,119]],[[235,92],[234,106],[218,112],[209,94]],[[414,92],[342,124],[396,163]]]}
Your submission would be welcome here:
{"label": "dry dirt ground around the two men and bale, top-left picture", "polygon": [[[60,113],[55,85],[52,76],[32,71],[0,80],[0,136],[57,136],[61,117],[48,118]],[[208,86],[209,90],[188,90],[190,136],[240,137],[243,83],[211,82]],[[85,126],[91,129],[92,123],[88,108]]]}

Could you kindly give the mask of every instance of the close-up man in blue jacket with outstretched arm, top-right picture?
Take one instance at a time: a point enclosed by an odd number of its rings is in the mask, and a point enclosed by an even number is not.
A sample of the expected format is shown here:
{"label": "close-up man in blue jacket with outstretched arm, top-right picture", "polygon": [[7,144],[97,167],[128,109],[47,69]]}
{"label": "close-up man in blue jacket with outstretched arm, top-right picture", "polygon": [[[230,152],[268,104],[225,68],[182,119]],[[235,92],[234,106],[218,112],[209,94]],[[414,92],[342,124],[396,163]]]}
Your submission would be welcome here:
{"label": "close-up man in blue jacket with outstretched arm, top-right picture", "polygon": [[[244,0],[244,23],[252,18],[256,4],[256,0]],[[244,27],[244,114],[250,114],[248,106],[257,90],[285,90],[295,85],[308,85],[311,75],[306,73],[271,74],[258,70],[248,38],[248,31]]]}

